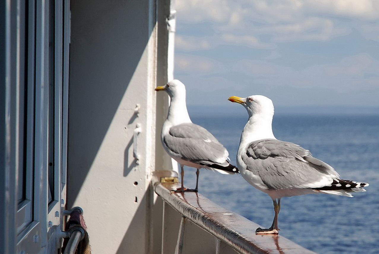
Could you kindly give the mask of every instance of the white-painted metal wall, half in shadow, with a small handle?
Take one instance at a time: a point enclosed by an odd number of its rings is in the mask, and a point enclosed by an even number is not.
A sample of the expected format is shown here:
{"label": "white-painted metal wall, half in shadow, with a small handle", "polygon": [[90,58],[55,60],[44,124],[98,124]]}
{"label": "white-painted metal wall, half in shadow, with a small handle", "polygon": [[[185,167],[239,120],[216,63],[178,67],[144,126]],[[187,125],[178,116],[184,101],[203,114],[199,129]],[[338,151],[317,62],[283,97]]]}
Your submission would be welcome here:
{"label": "white-painted metal wall, half in shadow, with a small handle", "polygon": [[67,208],[83,208],[93,253],[160,248],[150,179],[156,165],[171,166],[155,156],[168,101],[157,105],[154,91],[167,82],[168,6],[71,2]]}

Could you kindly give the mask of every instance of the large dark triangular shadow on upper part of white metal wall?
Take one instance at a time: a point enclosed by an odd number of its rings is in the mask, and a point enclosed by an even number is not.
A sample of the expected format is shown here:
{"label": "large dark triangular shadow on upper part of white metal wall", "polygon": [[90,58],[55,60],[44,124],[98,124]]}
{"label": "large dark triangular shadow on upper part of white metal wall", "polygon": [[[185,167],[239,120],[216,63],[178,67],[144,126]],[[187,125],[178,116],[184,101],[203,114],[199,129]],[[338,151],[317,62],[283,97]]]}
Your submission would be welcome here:
{"label": "large dark triangular shadow on upper part of white metal wall", "polygon": [[136,25],[146,16],[146,2],[71,3],[67,207],[77,198],[149,40],[147,28]]}

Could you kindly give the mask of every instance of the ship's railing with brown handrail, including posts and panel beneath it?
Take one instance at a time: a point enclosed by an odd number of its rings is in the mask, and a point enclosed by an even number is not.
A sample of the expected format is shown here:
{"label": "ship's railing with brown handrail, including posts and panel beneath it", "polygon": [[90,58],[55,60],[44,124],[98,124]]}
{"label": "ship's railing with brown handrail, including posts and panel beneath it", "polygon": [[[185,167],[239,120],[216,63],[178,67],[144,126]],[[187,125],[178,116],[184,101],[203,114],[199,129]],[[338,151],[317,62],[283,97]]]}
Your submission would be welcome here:
{"label": "ship's railing with brown handrail, including posts and panel beneath it", "polygon": [[[216,254],[315,254],[280,235],[256,235],[255,229],[260,225],[213,203],[200,193],[173,192],[180,187],[175,174],[174,171],[155,171],[153,177],[155,193],[164,201],[163,224],[168,225],[163,227],[162,254],[195,253],[196,248],[208,248],[204,253]],[[176,212],[170,211],[171,207]],[[179,213],[181,218],[174,218],[174,213]],[[171,247],[170,243],[165,245],[169,238],[175,238],[171,239]]]}

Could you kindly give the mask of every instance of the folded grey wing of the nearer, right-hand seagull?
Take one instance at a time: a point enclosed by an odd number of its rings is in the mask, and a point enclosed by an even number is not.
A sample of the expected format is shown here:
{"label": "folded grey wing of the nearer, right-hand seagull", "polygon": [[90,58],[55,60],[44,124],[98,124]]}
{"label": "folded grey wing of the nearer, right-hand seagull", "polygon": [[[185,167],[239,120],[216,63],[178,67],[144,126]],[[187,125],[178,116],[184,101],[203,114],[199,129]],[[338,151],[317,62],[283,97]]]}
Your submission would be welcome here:
{"label": "folded grey wing of the nearer, right-hand seagull", "polygon": [[259,176],[271,189],[318,188],[338,177],[329,165],[301,146],[274,139],[258,140],[242,156],[247,170]]}

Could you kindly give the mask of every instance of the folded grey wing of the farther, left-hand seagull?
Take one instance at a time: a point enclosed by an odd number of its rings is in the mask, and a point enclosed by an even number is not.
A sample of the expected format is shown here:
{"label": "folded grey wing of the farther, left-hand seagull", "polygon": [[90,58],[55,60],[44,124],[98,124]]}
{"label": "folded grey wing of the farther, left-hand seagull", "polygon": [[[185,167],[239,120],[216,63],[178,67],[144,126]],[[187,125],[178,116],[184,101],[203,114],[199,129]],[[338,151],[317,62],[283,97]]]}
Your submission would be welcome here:
{"label": "folded grey wing of the farther, left-hand seagull", "polygon": [[228,156],[226,148],[211,133],[193,123],[171,127],[163,142],[177,157],[201,165],[224,164]]}

